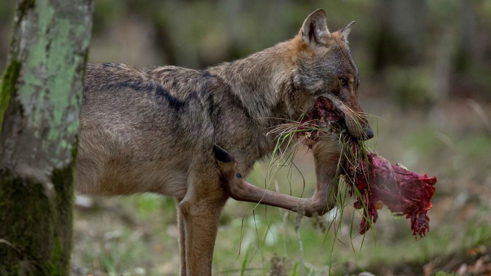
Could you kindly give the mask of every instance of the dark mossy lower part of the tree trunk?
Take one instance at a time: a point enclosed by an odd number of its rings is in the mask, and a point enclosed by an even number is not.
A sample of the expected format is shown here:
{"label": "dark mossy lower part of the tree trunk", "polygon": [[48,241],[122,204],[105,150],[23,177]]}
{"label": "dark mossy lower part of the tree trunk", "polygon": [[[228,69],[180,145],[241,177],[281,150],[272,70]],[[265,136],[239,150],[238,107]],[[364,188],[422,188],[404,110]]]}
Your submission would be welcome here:
{"label": "dark mossy lower part of the tree trunk", "polygon": [[0,221],[8,222],[0,224],[0,275],[70,274],[74,169],[54,170],[52,185],[0,173]]}

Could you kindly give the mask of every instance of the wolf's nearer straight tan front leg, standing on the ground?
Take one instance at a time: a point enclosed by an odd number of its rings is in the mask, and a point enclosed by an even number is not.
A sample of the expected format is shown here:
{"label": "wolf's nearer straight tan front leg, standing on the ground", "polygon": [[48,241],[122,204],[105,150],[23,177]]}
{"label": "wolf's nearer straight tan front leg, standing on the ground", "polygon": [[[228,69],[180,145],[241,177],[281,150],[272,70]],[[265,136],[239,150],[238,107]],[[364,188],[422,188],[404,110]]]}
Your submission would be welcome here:
{"label": "wolf's nearer straight tan front leg, standing on the ground", "polygon": [[218,219],[227,198],[218,175],[210,171],[199,175],[190,178],[188,193],[179,203],[186,234],[188,276],[211,275]]}

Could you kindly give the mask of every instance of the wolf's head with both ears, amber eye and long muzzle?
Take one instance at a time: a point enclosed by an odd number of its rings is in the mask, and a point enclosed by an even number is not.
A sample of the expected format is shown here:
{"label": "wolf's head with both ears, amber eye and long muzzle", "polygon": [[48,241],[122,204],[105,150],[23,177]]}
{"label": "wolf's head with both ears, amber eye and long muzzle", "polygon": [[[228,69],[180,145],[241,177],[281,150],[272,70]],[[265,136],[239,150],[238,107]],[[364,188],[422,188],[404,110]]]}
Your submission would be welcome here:
{"label": "wolf's head with both ears, amber eye and long muzzle", "polygon": [[343,112],[351,136],[370,139],[373,131],[358,101],[358,68],[348,47],[348,34],[354,23],[330,33],[323,9],[305,19],[299,35],[291,41],[297,95],[290,95],[289,100],[308,111],[319,97],[326,97]]}

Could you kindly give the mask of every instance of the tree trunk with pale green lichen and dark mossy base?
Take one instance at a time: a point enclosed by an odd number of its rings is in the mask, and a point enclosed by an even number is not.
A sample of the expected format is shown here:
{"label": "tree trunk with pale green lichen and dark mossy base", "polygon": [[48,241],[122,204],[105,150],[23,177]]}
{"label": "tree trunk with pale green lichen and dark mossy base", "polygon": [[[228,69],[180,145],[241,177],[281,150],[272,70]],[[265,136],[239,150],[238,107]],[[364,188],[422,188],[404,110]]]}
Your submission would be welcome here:
{"label": "tree trunk with pale green lichen and dark mossy base", "polygon": [[0,275],[69,275],[92,0],[19,0],[0,85]]}

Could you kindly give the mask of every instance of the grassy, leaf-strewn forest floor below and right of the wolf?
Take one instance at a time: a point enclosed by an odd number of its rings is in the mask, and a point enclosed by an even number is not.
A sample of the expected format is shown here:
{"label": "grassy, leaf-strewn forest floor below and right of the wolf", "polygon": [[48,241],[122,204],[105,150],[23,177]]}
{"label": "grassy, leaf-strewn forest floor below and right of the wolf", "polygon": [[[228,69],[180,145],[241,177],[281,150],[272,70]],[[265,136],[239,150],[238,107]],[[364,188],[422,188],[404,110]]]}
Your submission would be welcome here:
{"label": "grassy, leaf-strewn forest floor below and right of the wolf", "polygon": [[[342,216],[333,211],[301,219],[300,257],[296,214],[262,205],[252,212],[254,204],[230,200],[220,219],[214,275],[300,275],[300,262],[305,275],[490,275],[491,135],[486,122],[461,101],[430,113],[384,108],[383,102],[367,106],[380,117],[371,122],[378,125],[376,150],[392,163],[438,178],[426,237],[415,241],[409,221],[394,218],[386,208],[362,236],[361,216],[348,204]],[[298,172],[289,177],[285,169],[274,176],[270,189],[311,195],[315,177],[311,154],[305,152],[300,150],[294,161],[304,178]],[[267,171],[267,163],[257,164],[248,181],[264,185]],[[173,199],[79,198],[74,227],[74,275],[178,274]]]}

